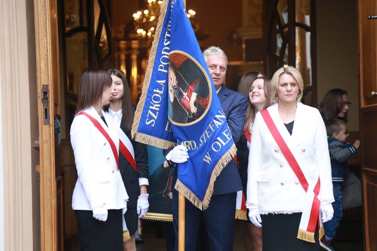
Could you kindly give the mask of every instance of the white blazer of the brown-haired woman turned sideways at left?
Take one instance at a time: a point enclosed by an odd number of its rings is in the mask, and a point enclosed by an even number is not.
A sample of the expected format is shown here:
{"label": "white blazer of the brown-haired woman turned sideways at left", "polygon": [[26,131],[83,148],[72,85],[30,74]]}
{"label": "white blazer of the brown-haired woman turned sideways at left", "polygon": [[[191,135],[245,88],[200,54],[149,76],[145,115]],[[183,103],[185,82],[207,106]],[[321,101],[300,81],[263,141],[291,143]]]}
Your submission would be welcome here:
{"label": "white blazer of the brown-haired woman turned sideways at left", "polygon": [[[119,150],[119,138],[111,119],[104,111],[104,123],[96,109],[84,110],[100,122]],[[125,209],[128,195],[109,142],[85,115],[76,115],[71,125],[71,144],[78,179],[73,190],[73,210],[93,210],[105,204],[106,209]]]}

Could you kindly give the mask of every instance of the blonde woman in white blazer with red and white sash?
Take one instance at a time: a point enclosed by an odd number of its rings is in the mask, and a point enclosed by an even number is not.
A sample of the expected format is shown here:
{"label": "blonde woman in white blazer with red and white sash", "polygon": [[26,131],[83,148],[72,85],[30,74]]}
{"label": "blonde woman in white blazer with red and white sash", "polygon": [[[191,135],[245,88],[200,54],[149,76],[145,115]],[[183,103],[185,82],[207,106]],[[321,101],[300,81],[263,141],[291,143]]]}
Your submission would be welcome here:
{"label": "blonde woman in white blazer with red and white sash", "polygon": [[256,114],[252,129],[249,218],[263,225],[263,250],[319,250],[334,201],[325,125],[316,108],[300,102],[296,68],[277,70],[271,85],[273,105]]}

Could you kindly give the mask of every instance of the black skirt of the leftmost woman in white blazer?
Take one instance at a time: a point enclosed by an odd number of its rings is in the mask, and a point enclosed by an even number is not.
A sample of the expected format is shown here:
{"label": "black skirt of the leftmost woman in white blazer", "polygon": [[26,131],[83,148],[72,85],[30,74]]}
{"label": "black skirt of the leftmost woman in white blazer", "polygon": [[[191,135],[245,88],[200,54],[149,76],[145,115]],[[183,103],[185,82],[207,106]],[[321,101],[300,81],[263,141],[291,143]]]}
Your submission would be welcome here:
{"label": "black skirt of the leftmost woman in white blazer", "polygon": [[108,218],[93,218],[91,210],[74,210],[80,235],[81,250],[123,251],[122,209],[108,210]]}

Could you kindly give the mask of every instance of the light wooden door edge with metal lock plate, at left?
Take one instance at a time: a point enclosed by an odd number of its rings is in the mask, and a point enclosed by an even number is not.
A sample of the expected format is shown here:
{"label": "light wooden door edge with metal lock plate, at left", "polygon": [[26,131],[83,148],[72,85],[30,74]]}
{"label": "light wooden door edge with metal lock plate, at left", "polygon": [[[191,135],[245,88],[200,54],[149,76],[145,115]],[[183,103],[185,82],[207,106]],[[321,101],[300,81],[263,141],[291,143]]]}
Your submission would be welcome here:
{"label": "light wooden door edge with metal lock plate, at left", "polygon": [[63,250],[62,177],[55,158],[54,116],[60,118],[56,0],[34,0],[40,151],[41,249]]}

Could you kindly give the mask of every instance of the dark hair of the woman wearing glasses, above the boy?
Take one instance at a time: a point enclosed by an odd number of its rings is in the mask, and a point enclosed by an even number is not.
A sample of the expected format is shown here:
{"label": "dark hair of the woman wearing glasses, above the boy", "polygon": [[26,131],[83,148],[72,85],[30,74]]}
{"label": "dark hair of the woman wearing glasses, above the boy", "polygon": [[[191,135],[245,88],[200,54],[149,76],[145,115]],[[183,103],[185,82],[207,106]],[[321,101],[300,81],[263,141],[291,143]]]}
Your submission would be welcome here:
{"label": "dark hair of the woman wearing glasses, above the boy", "polygon": [[[326,120],[330,118],[339,118],[338,114],[343,108],[339,102],[342,100],[343,95],[348,95],[347,91],[339,88],[331,89],[326,93],[322,102],[319,103],[318,110]],[[347,114],[342,119],[347,121]]]}

